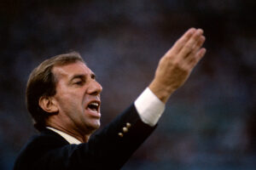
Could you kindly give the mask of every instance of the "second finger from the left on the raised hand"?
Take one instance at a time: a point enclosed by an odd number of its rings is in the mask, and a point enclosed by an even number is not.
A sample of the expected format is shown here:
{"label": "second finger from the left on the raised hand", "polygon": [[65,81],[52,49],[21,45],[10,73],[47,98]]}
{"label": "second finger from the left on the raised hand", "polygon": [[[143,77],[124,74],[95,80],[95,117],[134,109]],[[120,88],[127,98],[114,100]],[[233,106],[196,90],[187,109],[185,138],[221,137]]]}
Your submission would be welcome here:
{"label": "second finger from the left on the raised hand", "polygon": [[201,29],[195,31],[193,36],[189,39],[189,41],[184,45],[184,47],[180,51],[180,56],[186,58],[191,52],[193,52],[193,49],[195,49],[195,44],[200,40],[202,33],[203,31]]}

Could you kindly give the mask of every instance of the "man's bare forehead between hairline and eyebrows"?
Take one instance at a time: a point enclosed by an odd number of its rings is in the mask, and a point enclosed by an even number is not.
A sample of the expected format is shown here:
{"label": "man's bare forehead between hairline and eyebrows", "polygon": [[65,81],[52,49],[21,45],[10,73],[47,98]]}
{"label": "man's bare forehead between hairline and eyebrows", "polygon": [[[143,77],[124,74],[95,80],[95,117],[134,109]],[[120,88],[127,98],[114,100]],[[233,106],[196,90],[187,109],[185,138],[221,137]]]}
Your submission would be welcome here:
{"label": "man's bare forehead between hairline and eyebrows", "polygon": [[74,75],[90,75],[92,71],[83,62],[77,61],[67,65],[55,65],[52,69],[57,79],[62,77],[73,77]]}

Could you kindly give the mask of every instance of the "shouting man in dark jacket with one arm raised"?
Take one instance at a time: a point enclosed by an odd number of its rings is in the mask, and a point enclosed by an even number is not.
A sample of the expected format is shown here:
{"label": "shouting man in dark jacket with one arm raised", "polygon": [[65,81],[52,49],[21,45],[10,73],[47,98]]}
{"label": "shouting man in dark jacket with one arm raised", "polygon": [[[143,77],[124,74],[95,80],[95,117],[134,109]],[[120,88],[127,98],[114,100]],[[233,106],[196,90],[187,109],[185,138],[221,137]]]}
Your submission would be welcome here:
{"label": "shouting man in dark jacket with one arm raised", "polygon": [[153,132],[171,94],[206,53],[191,28],[160,59],[153,81],[102,132],[102,86],[77,53],[45,60],[28,80],[26,103],[41,132],[21,150],[18,169],[120,169]]}

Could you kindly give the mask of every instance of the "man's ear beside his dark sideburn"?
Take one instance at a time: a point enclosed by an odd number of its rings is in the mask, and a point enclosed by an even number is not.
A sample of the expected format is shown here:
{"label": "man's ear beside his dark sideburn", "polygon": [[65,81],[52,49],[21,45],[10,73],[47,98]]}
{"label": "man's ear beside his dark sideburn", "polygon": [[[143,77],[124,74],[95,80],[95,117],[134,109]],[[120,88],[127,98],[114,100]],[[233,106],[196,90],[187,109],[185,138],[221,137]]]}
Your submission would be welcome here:
{"label": "man's ear beside his dark sideburn", "polygon": [[38,104],[46,112],[56,113],[59,111],[58,106],[55,104],[55,100],[53,97],[41,96]]}

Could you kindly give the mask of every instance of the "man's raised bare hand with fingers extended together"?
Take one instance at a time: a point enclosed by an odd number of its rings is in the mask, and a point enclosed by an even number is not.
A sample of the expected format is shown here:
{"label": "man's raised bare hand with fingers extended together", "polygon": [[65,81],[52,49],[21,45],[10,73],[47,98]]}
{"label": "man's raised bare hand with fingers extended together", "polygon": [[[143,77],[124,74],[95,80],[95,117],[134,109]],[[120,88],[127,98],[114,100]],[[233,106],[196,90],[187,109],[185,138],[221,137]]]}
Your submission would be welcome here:
{"label": "man's raised bare hand with fingers extended together", "polygon": [[206,54],[206,48],[201,48],[205,40],[201,29],[190,28],[160,59],[149,88],[161,101],[166,103],[171,94],[186,82]]}

